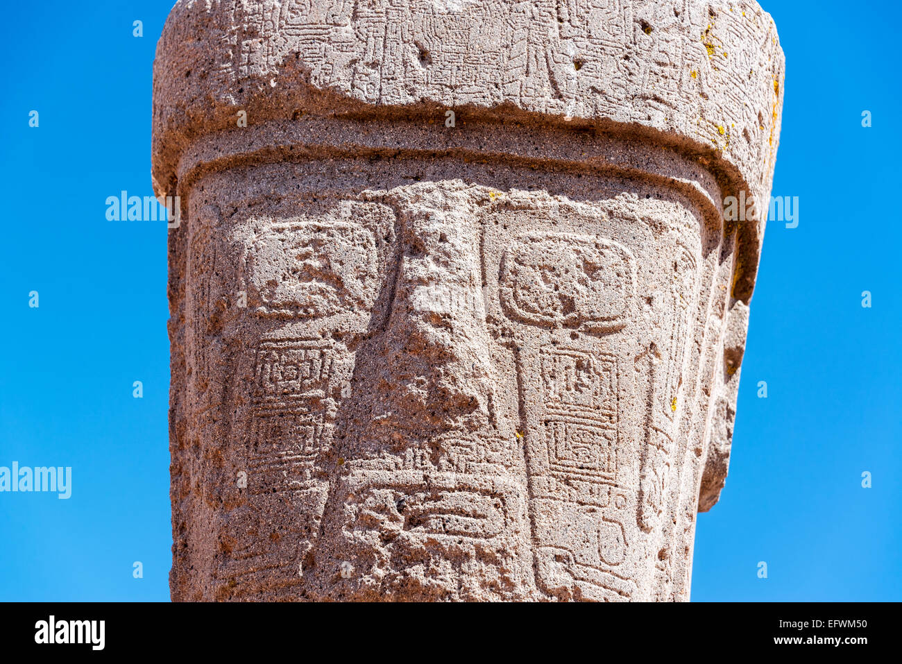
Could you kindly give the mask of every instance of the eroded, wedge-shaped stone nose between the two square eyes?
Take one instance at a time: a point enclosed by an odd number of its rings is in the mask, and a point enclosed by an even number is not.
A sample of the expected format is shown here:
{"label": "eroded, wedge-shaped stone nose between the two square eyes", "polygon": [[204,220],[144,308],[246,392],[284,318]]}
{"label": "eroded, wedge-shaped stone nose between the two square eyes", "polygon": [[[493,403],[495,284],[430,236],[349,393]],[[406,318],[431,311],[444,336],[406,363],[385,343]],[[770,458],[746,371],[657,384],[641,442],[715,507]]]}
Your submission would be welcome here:
{"label": "eroded, wedge-shaped stone nose between the two square eyes", "polygon": [[437,434],[488,419],[480,243],[467,217],[445,210],[405,220],[374,420]]}

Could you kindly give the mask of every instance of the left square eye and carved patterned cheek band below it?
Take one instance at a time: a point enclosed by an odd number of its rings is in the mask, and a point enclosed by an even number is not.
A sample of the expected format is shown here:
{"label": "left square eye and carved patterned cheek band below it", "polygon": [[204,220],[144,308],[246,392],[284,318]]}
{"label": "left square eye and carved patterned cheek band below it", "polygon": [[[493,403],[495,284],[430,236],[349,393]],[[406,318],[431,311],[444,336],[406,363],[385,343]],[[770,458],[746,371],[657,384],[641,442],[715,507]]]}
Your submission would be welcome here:
{"label": "left square eye and carved patterned cheek band below it", "polygon": [[247,488],[226,521],[224,539],[243,546],[226,560],[231,586],[221,593],[262,596],[309,576],[327,505],[327,457],[351,393],[352,342],[385,288],[394,221],[385,206],[337,201],[317,216],[250,217],[236,226],[248,308],[237,321],[233,444]]}

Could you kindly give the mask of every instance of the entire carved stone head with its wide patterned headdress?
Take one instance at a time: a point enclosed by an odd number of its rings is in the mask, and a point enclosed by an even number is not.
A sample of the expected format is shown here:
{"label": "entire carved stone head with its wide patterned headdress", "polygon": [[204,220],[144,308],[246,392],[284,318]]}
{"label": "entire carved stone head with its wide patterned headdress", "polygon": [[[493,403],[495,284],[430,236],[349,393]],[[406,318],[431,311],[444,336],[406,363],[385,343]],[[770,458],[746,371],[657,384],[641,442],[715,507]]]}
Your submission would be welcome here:
{"label": "entire carved stone head with its wide patterned headdress", "polygon": [[177,4],[173,599],[687,599],[782,88],[749,2]]}

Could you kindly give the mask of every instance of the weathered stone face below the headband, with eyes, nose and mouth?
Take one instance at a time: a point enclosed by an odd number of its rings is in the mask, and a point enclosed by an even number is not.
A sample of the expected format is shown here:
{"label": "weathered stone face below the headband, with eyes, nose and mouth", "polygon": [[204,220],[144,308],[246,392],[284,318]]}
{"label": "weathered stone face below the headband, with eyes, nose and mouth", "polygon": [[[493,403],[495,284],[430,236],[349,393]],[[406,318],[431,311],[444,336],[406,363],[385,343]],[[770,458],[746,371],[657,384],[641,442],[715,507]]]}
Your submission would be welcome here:
{"label": "weathered stone face below the headband, with eyes, nose and mouth", "polygon": [[732,272],[719,221],[676,186],[442,168],[194,185],[186,439],[222,487],[191,544],[208,592],[685,595]]}

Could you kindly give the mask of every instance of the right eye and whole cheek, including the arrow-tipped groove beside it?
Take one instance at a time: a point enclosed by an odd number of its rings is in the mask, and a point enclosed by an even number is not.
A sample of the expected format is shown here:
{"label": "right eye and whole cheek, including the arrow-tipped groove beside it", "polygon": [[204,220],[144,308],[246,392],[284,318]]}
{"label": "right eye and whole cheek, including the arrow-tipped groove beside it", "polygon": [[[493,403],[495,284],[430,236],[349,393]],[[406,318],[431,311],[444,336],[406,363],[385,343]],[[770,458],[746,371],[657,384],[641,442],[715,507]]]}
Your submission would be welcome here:
{"label": "right eye and whole cheek, including the arrow-tipped groove beside it", "polygon": [[[567,232],[593,227],[575,209],[554,222],[564,232],[538,230],[553,222],[532,214],[520,235],[487,241],[501,256],[494,310],[518,351],[536,584],[558,598],[648,593],[646,549],[667,509],[686,400],[698,262],[692,234],[679,240],[647,214],[645,225],[595,222],[599,235]],[[652,266],[641,291],[633,251]]]}

